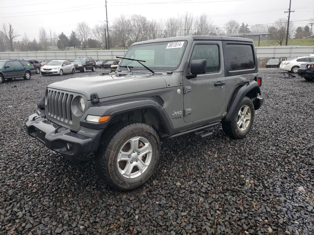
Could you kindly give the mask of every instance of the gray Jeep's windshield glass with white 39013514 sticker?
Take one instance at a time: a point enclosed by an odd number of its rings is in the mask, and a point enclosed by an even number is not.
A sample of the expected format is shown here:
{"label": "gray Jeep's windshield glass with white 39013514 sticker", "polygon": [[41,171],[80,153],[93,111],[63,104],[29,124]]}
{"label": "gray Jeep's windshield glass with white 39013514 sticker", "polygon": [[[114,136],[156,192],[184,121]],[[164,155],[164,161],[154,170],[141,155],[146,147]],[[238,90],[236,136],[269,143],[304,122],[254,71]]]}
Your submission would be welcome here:
{"label": "gray Jeep's windshield glass with white 39013514 sticker", "polygon": [[[125,58],[145,60],[144,65],[152,70],[175,70],[179,67],[187,41],[155,42],[133,45]],[[121,60],[119,66],[133,66],[133,69],[146,70],[137,61]]]}

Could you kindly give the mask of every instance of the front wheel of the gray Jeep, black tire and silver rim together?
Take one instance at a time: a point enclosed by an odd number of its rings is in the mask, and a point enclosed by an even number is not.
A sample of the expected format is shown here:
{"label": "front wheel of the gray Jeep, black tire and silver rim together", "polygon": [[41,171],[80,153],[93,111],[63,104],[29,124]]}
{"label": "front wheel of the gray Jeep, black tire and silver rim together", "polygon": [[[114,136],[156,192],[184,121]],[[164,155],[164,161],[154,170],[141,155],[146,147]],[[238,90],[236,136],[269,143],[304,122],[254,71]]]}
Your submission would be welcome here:
{"label": "front wheel of the gray Jeep, black tire and silver rim together", "polygon": [[149,180],[160,158],[155,130],[144,123],[125,123],[109,130],[107,136],[96,154],[99,177],[119,190],[133,190]]}

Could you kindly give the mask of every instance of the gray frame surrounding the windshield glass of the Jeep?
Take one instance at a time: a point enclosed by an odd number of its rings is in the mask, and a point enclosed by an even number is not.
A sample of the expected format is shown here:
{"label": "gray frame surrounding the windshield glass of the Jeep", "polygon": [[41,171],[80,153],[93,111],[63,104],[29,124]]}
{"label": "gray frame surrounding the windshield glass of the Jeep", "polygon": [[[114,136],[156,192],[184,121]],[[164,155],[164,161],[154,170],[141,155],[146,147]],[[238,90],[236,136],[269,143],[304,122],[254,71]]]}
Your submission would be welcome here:
{"label": "gray frame surrounding the windshield glass of the Jeep", "polygon": [[[189,45],[190,42],[189,42],[189,40],[187,40],[186,37],[184,37],[184,39],[183,39],[183,38],[176,38],[176,39],[174,39],[174,40],[163,40],[163,41],[154,41],[154,42],[149,42],[149,43],[133,44],[133,45],[131,45],[131,46],[129,47],[129,49],[128,49],[127,51],[129,51],[131,47],[140,47],[140,46],[142,46],[142,45],[149,45],[149,44],[155,44],[155,43],[165,43],[165,45],[166,45],[167,43],[182,42],[182,41],[184,41],[184,45],[183,45],[184,50],[182,51],[182,55],[181,55],[181,58],[180,58],[180,62],[178,63],[178,65],[177,65],[176,67],[173,67],[173,68],[171,68],[171,69],[169,69],[169,68],[165,68],[165,69],[154,69],[154,67],[151,68],[151,65],[146,65],[147,67],[149,67],[149,68],[150,68],[151,70],[153,70],[153,71],[175,71],[175,70],[177,70],[177,69],[180,67],[180,65],[181,65],[181,63],[182,63],[182,59],[183,59],[184,55],[187,53],[187,48],[190,48],[190,45]],[[124,56],[126,56],[126,55],[127,55],[127,52],[125,53]],[[123,56],[123,57],[124,57],[124,56]],[[133,59],[134,59],[134,58],[133,58]],[[118,67],[117,67],[117,69],[119,69],[119,70],[127,70],[127,68],[125,68],[125,67],[120,67],[123,60],[125,60],[125,59],[121,59],[119,65],[118,65]],[[127,61],[127,60],[126,60],[126,61]],[[145,62],[142,62],[142,63],[145,65]],[[139,65],[140,65],[140,64],[139,64]],[[122,66],[124,66],[124,65],[122,65]],[[140,66],[142,66],[142,65],[140,65]],[[142,68],[139,69],[139,68],[134,67],[134,68],[132,69],[132,71],[134,71],[134,70],[148,71],[148,70],[145,69],[144,67],[143,67],[143,69],[142,69]]]}

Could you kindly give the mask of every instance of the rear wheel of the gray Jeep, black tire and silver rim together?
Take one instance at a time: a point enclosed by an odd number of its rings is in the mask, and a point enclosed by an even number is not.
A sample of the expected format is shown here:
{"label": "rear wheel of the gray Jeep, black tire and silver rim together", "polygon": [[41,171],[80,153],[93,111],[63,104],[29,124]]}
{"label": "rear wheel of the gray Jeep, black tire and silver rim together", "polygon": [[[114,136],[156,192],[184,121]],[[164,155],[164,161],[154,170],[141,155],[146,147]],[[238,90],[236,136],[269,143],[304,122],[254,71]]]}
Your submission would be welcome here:
{"label": "rear wheel of the gray Jeep, black tire and silver rim together", "polygon": [[241,139],[246,137],[254,121],[254,105],[249,97],[244,97],[240,109],[234,113],[230,122],[222,121],[222,129],[229,137]]}

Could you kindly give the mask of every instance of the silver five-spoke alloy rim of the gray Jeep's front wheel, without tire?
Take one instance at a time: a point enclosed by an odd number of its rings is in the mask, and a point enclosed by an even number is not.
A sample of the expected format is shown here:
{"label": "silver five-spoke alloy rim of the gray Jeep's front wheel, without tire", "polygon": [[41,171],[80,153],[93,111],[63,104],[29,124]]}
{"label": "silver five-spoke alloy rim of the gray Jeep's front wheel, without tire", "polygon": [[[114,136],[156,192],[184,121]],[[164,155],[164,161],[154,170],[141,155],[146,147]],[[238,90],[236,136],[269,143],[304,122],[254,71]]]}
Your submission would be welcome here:
{"label": "silver five-spoke alloy rim of the gray Jeep's front wheel, without tire", "polygon": [[133,179],[147,170],[152,159],[152,146],[144,137],[133,137],[123,144],[117,157],[119,173]]}

